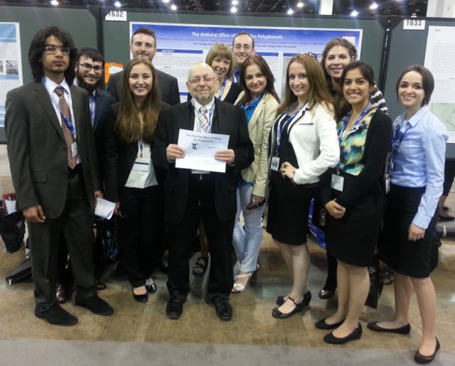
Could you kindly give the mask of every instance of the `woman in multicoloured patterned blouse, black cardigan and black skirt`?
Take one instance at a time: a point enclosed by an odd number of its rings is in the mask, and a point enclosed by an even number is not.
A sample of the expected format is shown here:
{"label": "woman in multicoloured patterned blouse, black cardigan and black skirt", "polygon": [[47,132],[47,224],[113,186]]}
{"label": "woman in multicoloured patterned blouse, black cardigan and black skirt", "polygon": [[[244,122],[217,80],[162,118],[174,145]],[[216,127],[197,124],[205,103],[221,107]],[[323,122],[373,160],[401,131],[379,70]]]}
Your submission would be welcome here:
{"label": "woman in multicoloured patterned blouse, black cardigan and black skirt", "polygon": [[375,75],[355,61],[341,75],[348,114],[337,124],[338,167],[324,175],[322,203],[328,212],[327,252],[338,260],[338,309],[316,323],[333,329],[323,340],[342,344],[362,335],[360,313],[370,289],[368,264],[378,244],[385,208],[385,165],[392,121],[370,103]]}

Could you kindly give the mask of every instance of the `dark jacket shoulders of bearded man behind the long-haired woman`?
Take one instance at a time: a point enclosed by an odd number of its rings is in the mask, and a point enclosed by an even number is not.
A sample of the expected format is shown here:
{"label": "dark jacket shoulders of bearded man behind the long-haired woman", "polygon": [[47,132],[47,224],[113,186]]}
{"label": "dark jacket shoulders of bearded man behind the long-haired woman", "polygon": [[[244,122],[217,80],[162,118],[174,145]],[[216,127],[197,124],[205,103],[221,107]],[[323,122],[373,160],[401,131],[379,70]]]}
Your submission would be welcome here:
{"label": "dark jacket shoulders of bearded man behind the long-haired woman", "polygon": [[[160,70],[156,70],[156,76],[158,77],[159,90],[161,91],[161,102],[165,102],[169,105],[179,104],[180,95],[178,94],[178,82],[176,77],[168,75],[166,72]],[[107,92],[117,99],[117,101],[119,100],[119,96],[122,95],[122,80],[123,71],[120,71],[109,77],[109,84],[107,85]]]}

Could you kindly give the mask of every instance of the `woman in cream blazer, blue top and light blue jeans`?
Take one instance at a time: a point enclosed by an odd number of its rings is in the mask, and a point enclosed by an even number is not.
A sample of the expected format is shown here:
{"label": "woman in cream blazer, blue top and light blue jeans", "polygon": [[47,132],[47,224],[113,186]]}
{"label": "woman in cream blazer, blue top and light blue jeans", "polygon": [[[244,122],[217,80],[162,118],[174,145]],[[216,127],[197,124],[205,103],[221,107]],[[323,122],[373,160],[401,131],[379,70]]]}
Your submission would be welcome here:
{"label": "woman in cream blazer, blue top and light blue jeans", "polygon": [[[250,139],[255,147],[255,161],[242,170],[237,188],[237,216],[232,242],[240,267],[232,292],[245,291],[253,272],[259,267],[257,256],[262,242],[262,214],[269,185],[267,148],[279,106],[274,76],[262,56],[247,57],[241,75],[240,85],[244,91],[235,105],[245,110]],[[240,226],[240,212],[243,212],[245,230]]]}

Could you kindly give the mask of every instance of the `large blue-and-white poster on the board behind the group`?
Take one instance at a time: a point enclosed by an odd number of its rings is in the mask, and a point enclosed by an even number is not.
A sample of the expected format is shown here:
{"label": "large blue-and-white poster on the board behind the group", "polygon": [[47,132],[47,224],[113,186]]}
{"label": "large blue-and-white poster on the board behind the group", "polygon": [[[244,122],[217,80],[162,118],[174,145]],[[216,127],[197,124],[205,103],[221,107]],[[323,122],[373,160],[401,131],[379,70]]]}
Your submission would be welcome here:
{"label": "large blue-and-white poster on the board behind the group", "polygon": [[321,53],[333,38],[346,38],[355,45],[360,55],[361,29],[277,28],[249,26],[215,26],[200,24],[167,24],[130,22],[130,36],[141,27],[156,33],[154,66],[178,79],[181,100],[186,101],[188,70],[194,63],[205,61],[210,47],[217,42],[232,45],[232,38],[247,31],[255,40],[256,53],[262,55],[272,70],[275,89],[281,96],[286,81],[289,59],[297,53],[312,52],[321,60]]}

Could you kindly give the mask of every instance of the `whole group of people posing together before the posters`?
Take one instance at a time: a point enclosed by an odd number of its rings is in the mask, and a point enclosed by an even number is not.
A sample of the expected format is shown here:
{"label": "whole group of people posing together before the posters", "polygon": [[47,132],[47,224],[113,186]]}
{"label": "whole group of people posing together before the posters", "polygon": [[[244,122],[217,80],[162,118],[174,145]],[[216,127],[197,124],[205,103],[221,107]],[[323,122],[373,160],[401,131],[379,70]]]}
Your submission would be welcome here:
{"label": "whole group of people posing together before the posters", "polygon": [[[205,63],[191,66],[183,103],[176,79],[151,63],[154,32],[139,28],[130,50],[134,58],[109,80],[111,97],[97,88],[102,55],[87,49],[76,55],[68,33],[45,28],[29,52],[34,80],[7,95],[9,161],[29,224],[36,316],[56,325],[77,322],[55,298],[55,253],[62,242],[76,304],[99,315],[113,312],[96,294],[91,247],[95,199],[104,195],[116,204],[134,299],[146,302],[156,291],[152,274],[163,252],[166,220],[166,316],[178,319],[183,313],[199,229],[206,244],[193,271],[205,271],[210,253],[208,299],[223,321],[232,319],[231,292],[245,291],[259,267],[268,200],[267,232],[292,276],[291,291],[277,297],[272,316],[289,318],[311,301],[306,237],[311,201],[317,200],[323,210],[314,215],[326,218],[328,254],[328,279],[319,296],[331,297],[338,287],[336,312],[316,323],[331,330],[323,340],[342,344],[362,335],[367,267],[379,250],[395,272],[395,315],[368,328],[409,333],[414,287],[422,318],[414,360],[431,362],[439,350],[432,235],[448,137],[427,108],[431,72],[422,66],[402,72],[396,92],[405,112],[392,123],[373,69],[356,60],[355,47],[341,38],[326,45],[320,61],[311,53],[289,60],[282,101],[272,71],[246,32],[233,38],[232,48],[215,43]],[[88,95],[70,86],[75,71],[75,84]],[[100,117],[103,97],[109,107]],[[178,145],[181,129],[228,135],[228,149],[214,155],[225,172],[177,168],[186,153]]]}

